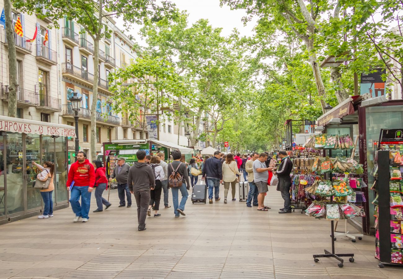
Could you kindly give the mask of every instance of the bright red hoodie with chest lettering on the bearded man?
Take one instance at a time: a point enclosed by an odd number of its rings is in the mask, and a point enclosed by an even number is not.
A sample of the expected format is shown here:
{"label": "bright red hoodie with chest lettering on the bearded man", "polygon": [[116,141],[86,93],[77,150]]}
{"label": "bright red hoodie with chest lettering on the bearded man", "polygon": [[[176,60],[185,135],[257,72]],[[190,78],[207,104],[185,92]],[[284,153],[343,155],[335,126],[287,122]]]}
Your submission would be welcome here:
{"label": "bright red hoodie with chest lettering on the bearded man", "polygon": [[94,166],[89,162],[89,160],[85,159],[82,164],[76,161],[71,165],[66,187],[70,187],[71,182],[73,181],[74,186],[94,187],[95,171]]}

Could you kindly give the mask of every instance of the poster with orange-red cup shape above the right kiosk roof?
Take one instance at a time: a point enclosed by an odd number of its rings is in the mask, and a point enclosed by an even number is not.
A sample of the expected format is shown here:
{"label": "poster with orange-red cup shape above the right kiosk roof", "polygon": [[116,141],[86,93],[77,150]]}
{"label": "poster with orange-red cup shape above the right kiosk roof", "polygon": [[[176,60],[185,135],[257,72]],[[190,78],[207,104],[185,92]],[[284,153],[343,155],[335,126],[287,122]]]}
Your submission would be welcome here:
{"label": "poster with orange-red cup shape above the right kiosk roof", "polygon": [[375,72],[361,74],[360,95],[369,93],[372,98],[385,95],[385,82],[382,80],[382,75],[386,74],[386,69],[371,69],[370,71]]}

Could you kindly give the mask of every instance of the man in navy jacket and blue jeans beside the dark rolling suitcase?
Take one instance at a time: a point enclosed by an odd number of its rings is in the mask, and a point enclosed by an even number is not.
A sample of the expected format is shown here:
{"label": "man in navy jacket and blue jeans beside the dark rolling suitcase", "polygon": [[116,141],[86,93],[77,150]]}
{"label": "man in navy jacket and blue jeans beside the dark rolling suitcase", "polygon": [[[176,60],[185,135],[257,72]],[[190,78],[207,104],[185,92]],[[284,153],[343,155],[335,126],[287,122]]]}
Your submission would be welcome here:
{"label": "man in navy jacket and blue jeans beside the dark rolling suitcase", "polygon": [[209,203],[213,203],[213,187],[216,202],[220,200],[220,183],[222,183],[222,164],[220,162],[220,152],[214,152],[214,156],[208,158],[204,163],[202,179],[206,178],[208,184]]}

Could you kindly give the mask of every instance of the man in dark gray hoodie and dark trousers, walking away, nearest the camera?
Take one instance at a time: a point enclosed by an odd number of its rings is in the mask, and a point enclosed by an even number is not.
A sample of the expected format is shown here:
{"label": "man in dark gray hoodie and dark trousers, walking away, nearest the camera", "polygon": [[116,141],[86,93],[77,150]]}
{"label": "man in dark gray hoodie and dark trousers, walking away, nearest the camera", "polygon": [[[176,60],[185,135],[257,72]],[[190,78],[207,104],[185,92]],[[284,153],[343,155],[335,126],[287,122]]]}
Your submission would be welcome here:
{"label": "man in dark gray hoodie and dark trousers, walking away, nearest the camera", "polygon": [[130,193],[134,194],[137,204],[137,219],[139,231],[145,230],[148,204],[150,203],[150,189],[154,190],[155,176],[152,167],[145,162],[145,151],[136,152],[137,162],[129,169],[127,184]]}

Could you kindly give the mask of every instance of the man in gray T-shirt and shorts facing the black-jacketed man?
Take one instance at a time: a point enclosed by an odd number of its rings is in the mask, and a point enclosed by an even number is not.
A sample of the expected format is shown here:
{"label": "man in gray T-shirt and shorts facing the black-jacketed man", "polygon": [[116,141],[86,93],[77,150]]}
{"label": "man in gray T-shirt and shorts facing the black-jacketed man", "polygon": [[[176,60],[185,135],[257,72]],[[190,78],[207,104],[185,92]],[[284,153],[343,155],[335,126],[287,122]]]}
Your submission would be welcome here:
{"label": "man in gray T-shirt and shorts facing the black-jacketed man", "polygon": [[266,168],[267,154],[260,153],[258,160],[253,162],[253,177],[255,180],[256,187],[258,187],[258,210],[268,211],[270,207],[264,206],[264,196],[266,195],[268,189],[267,181],[269,179],[269,172],[273,168]]}

